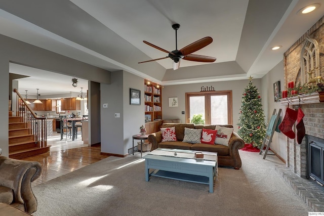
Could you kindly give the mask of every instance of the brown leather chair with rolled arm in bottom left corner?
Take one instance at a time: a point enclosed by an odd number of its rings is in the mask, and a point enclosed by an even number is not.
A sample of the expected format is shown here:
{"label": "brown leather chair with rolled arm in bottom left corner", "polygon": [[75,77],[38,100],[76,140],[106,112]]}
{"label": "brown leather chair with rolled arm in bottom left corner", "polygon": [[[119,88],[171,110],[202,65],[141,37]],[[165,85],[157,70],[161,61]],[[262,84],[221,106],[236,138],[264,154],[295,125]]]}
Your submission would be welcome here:
{"label": "brown leather chair with rolled arm in bottom left corner", "polygon": [[[0,156],[0,202],[30,214],[35,212],[37,200],[31,190],[31,182],[36,180],[41,172],[42,166],[39,162]],[[4,212],[0,214],[2,213]]]}

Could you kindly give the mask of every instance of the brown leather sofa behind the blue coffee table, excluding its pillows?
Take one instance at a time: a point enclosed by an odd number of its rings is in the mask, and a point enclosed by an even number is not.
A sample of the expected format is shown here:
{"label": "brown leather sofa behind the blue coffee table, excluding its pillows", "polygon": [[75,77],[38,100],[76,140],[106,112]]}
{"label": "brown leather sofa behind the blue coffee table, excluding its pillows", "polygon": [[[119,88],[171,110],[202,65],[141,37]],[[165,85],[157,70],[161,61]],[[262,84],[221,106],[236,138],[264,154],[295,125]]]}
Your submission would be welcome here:
{"label": "brown leather sofa behind the blue coffee table, excluding its pillows", "polygon": [[[173,149],[188,149],[188,150],[195,150],[195,151],[209,151],[209,152],[217,152],[218,153],[218,165],[221,166],[233,166],[235,169],[239,169],[241,167],[241,158],[238,154],[238,149],[244,147],[244,141],[235,133],[233,132],[228,146],[215,144],[205,144],[205,143],[185,143],[182,142],[184,138],[184,128],[206,128],[206,129],[215,129],[216,125],[195,125],[192,123],[164,123],[161,125],[161,128],[166,127],[175,127],[176,129],[176,137],[177,141],[173,142],[161,142],[162,141],[162,134],[161,131],[157,133],[150,134],[148,136],[148,141],[152,143],[151,151],[156,148],[173,148]],[[232,125],[220,125],[226,127],[233,127]]]}

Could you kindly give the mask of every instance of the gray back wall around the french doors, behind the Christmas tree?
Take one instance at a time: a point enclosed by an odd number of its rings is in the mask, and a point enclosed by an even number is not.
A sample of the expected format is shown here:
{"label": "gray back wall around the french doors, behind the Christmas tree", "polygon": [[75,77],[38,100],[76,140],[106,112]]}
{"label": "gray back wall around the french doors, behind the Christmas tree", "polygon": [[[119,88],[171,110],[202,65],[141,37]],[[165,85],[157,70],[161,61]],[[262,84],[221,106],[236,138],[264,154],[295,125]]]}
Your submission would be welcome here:
{"label": "gray back wall around the french doors, behind the Christmas tree", "polygon": [[[253,79],[253,83],[258,88],[261,94],[261,79]],[[204,82],[194,84],[167,85],[162,89],[162,112],[163,119],[180,118],[181,122],[185,122],[185,115],[181,111],[185,111],[185,93],[200,92],[200,88],[214,87],[215,91],[232,90],[233,103],[233,127],[237,131],[237,122],[239,117],[239,108],[241,105],[242,94],[247,88],[249,79],[235,81],[220,81],[220,82]],[[169,107],[168,98],[178,97],[178,107]]]}

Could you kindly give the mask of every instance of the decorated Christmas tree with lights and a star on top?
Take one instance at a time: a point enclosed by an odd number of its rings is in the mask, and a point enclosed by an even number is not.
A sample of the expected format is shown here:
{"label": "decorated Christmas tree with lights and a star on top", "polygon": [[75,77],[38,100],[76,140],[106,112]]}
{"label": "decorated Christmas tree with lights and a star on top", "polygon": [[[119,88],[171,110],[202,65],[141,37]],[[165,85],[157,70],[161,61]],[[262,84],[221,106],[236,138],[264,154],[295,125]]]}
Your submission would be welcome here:
{"label": "decorated Christmas tree with lights and a star on top", "polygon": [[250,82],[244,90],[238,118],[238,134],[245,143],[252,144],[259,149],[266,132],[265,117],[263,114],[261,97],[258,88]]}

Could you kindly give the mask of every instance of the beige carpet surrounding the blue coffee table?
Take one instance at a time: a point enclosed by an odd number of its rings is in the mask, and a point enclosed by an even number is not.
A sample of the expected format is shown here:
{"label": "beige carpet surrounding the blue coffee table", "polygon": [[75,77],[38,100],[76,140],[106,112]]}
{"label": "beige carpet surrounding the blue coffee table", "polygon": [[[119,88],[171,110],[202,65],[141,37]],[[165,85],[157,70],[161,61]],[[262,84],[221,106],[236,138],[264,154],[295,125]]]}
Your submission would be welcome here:
{"label": "beige carpet surrounding the blue coffee table", "polygon": [[240,151],[239,170],[219,167],[214,193],[203,184],[152,177],[139,154],[108,157],[33,187],[34,215],[308,215],[275,171],[275,156]]}

